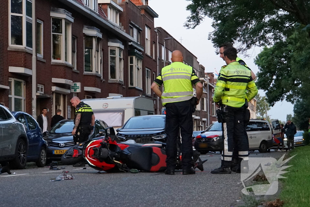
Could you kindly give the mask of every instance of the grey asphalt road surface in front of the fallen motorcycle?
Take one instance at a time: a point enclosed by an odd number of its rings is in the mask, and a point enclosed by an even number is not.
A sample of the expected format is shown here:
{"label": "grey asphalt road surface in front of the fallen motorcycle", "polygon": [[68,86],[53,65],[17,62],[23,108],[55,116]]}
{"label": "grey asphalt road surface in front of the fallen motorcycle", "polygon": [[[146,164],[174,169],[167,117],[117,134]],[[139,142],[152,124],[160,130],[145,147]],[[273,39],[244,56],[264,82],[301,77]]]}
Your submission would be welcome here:
{"label": "grey asphalt road surface in front of the fallen motorcycle", "polygon": [[[250,153],[250,157],[279,158],[283,152]],[[51,182],[61,174],[49,168],[27,167],[0,175],[0,206],[204,206],[236,207],[243,188],[240,174],[214,175],[220,166],[220,154],[201,155],[204,171],[195,175],[164,173],[104,173],[65,167],[73,180]],[[197,169],[198,170],[198,169]],[[69,173],[69,174],[70,174]]]}

